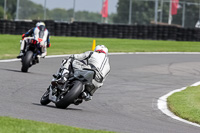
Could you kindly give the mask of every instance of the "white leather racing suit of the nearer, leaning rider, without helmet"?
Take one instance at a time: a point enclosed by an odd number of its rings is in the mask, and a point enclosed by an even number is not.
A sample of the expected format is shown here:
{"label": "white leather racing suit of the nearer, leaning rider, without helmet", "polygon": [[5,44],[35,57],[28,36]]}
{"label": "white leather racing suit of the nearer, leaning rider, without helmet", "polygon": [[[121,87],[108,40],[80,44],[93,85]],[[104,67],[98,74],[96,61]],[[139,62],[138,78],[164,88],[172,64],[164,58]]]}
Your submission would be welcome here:
{"label": "white leather racing suit of the nearer, leaning rider, without helmet", "polygon": [[82,70],[84,68],[95,70],[95,77],[92,80],[94,87],[90,87],[89,93],[93,93],[103,85],[110,72],[109,58],[105,53],[87,51],[82,54],[74,54],[69,59],[64,59],[61,64],[62,75],[69,73],[69,66],[72,63],[73,69]]}

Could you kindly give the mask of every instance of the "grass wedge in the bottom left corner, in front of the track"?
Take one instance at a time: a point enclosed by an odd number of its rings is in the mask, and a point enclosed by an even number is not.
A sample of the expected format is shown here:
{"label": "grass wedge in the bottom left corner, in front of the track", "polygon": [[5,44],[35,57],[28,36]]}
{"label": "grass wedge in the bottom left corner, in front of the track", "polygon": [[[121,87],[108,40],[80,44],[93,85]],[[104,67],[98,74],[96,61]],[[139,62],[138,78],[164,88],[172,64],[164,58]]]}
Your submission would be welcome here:
{"label": "grass wedge in the bottom left corner, in front of the track", "polygon": [[49,124],[11,117],[0,117],[0,133],[114,133],[110,131],[89,130],[58,124]]}

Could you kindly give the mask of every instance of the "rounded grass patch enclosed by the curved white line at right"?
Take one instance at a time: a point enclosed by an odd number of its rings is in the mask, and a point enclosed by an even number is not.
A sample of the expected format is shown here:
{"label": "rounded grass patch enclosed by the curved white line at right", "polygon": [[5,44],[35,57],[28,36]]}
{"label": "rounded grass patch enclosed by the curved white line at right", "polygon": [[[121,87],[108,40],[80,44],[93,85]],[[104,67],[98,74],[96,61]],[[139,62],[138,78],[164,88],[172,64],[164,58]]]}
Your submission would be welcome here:
{"label": "rounded grass patch enclosed by the curved white line at right", "polygon": [[188,87],[167,99],[169,109],[177,116],[200,124],[200,86]]}

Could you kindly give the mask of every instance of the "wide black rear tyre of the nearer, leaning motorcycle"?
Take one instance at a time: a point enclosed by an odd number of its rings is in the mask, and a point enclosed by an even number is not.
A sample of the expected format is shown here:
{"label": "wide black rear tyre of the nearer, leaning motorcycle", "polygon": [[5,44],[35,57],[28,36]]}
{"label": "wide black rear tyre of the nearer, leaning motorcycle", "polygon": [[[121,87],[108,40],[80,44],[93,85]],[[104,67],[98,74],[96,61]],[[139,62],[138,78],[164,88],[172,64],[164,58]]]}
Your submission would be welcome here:
{"label": "wide black rear tyre of the nearer, leaning motorcycle", "polygon": [[82,90],[83,90],[83,83],[78,80],[74,81],[74,85],[67,92],[67,94],[65,94],[64,96],[60,96],[58,98],[58,101],[56,102],[56,107],[62,109],[67,108],[70,104],[74,103],[75,99],[78,98]]}

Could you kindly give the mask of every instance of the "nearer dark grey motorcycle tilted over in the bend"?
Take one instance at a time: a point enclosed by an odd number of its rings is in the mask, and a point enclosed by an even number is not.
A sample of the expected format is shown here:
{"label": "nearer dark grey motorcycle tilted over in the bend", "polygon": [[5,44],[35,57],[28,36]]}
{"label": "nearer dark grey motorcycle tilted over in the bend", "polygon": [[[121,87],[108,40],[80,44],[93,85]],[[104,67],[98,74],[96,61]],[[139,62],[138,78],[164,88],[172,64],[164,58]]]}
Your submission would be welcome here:
{"label": "nearer dark grey motorcycle tilted over in the bend", "polygon": [[[53,102],[57,108],[62,109],[67,108],[70,104],[79,105],[84,99],[83,92],[90,92],[93,89],[92,79],[94,76],[95,70],[92,69],[71,71],[64,84],[55,82],[47,88],[40,103],[47,105]],[[61,78],[57,75],[53,75],[53,77],[52,81]]]}

